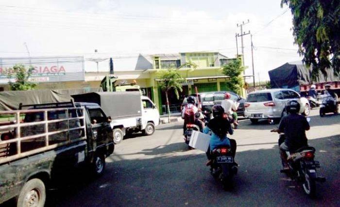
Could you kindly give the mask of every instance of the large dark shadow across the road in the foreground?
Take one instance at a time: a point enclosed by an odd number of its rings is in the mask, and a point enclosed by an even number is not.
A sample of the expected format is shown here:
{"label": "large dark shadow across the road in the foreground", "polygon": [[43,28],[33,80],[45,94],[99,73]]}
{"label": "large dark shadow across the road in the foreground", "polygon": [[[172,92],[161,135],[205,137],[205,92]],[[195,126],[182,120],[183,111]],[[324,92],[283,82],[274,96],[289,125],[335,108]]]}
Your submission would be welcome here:
{"label": "large dark shadow across the road in the foreground", "polygon": [[[75,177],[71,185],[53,191],[49,206],[339,206],[340,136],[310,140],[316,147],[316,199],[309,199],[295,181],[279,173],[277,145],[238,152],[234,189],[223,191],[209,174],[204,154],[173,155],[180,143],[146,149],[152,159],[122,159],[107,163],[105,174],[89,181]],[[193,151],[194,152],[194,151]],[[164,154],[162,154],[164,153]],[[110,159],[110,158],[108,158]],[[51,199],[52,197],[52,199]],[[259,199],[261,198],[261,199]]]}

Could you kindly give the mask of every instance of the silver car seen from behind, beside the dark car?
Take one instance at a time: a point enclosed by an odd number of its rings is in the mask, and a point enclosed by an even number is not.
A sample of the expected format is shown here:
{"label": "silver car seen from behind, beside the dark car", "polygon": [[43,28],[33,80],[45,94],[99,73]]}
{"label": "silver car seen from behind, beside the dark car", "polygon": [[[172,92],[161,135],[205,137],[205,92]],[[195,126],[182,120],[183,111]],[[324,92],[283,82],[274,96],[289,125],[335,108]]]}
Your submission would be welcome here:
{"label": "silver car seen from behind, beside the dark car", "polygon": [[309,115],[310,106],[305,97],[290,89],[268,89],[248,94],[244,104],[244,116],[252,123],[267,118],[279,121],[281,117],[287,115],[285,106],[289,100],[298,101],[301,106],[300,113]]}

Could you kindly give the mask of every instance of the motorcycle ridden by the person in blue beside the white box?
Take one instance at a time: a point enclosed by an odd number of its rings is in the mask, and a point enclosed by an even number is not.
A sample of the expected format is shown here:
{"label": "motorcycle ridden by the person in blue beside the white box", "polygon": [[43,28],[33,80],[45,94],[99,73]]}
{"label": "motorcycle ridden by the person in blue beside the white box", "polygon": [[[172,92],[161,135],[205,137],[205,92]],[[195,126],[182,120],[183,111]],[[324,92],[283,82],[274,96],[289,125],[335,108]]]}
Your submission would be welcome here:
{"label": "motorcycle ridden by the person in blue beside the white box", "polygon": [[210,165],[211,175],[222,182],[224,190],[232,187],[232,178],[238,172],[238,164],[234,161],[233,152],[229,146],[220,146],[211,152],[213,157]]}

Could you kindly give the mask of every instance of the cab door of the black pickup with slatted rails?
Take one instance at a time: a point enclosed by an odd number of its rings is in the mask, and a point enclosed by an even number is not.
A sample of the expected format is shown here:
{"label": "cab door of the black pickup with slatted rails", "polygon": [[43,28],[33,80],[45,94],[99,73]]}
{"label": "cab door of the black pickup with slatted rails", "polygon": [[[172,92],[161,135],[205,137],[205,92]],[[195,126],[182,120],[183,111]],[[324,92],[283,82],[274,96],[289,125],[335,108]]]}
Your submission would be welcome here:
{"label": "cab door of the black pickup with slatted rails", "polygon": [[101,108],[87,108],[91,120],[93,148],[103,146],[113,141],[112,128]]}

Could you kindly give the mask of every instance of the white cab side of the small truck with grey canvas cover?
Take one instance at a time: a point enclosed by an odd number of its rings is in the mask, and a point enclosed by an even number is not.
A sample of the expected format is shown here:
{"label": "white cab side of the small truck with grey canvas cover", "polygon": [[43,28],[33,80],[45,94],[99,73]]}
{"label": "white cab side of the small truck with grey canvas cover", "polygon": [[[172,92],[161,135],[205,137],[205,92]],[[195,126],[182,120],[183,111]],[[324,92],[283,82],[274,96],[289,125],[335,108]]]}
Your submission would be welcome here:
{"label": "white cab side of the small truck with grey canvas cover", "polygon": [[142,114],[142,122],[143,128],[150,121],[153,122],[154,125],[159,124],[159,112],[157,108],[154,106],[153,102],[150,99],[143,98],[143,114]]}

